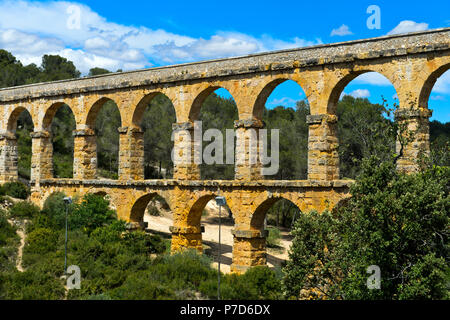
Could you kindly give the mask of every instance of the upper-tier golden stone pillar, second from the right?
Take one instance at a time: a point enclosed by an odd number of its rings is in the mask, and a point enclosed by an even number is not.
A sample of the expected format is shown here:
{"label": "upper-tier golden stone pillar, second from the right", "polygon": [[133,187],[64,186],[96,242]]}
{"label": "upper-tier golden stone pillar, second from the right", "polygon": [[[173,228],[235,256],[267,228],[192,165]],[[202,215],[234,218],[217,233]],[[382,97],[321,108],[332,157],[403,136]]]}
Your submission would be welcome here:
{"label": "upper-tier golden stone pillar, second from the right", "polygon": [[308,180],[330,181],[339,177],[337,116],[310,115],[308,140]]}

